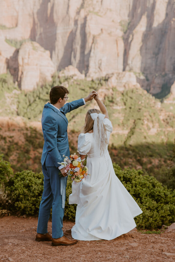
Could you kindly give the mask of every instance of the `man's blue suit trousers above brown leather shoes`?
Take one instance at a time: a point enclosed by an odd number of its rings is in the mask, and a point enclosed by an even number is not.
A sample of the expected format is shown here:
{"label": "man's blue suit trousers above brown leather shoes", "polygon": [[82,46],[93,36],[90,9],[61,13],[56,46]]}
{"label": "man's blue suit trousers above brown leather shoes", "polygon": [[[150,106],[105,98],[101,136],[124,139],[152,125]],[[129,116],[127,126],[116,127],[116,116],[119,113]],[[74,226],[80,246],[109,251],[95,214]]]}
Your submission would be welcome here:
{"label": "man's blue suit trousers above brown leather shoes", "polygon": [[44,191],[39,208],[37,233],[47,233],[47,223],[52,207],[52,237],[60,238],[63,236],[62,227],[64,216],[60,186],[61,179],[65,179],[67,183],[67,177],[60,177],[60,172],[57,167],[46,167],[42,165],[42,170],[44,174]]}

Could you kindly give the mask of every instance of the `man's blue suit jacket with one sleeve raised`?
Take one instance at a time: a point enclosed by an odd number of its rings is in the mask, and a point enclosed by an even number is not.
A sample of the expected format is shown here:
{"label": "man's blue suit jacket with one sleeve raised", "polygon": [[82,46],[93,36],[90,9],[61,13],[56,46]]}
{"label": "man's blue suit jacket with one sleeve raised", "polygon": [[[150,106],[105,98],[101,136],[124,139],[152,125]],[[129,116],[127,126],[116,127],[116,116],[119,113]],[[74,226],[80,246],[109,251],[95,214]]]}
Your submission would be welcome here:
{"label": "man's blue suit jacket with one sleeve raised", "polygon": [[83,99],[66,103],[60,111],[47,103],[44,106],[41,118],[44,146],[41,163],[45,166],[59,167],[65,156],[70,156],[66,113],[84,105]]}

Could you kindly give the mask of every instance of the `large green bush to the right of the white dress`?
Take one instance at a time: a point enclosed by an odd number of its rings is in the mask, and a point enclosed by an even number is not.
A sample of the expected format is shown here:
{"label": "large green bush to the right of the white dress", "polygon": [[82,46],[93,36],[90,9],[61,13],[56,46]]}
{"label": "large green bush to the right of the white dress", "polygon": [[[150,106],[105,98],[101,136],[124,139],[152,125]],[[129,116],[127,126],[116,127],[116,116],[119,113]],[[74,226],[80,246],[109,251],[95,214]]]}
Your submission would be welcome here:
{"label": "large green bush to the right of the white dress", "polygon": [[162,186],[155,177],[143,176],[142,170],[122,170],[115,163],[113,167],[117,177],[143,211],[135,217],[137,228],[160,228],[174,223],[175,190]]}

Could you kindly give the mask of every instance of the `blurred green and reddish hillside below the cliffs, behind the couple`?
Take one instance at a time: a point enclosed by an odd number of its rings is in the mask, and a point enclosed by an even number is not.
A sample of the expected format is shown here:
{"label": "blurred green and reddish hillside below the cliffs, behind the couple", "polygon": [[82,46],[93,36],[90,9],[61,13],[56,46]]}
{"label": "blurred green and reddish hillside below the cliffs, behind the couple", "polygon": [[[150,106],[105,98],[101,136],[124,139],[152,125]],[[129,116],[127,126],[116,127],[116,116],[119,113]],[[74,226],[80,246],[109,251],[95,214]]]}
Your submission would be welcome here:
{"label": "blurred green and reddish hillside below the cliffs, behind the couple", "polygon": [[[141,88],[130,88],[124,92],[117,87],[109,89],[107,79],[93,81],[58,78],[54,75],[51,83],[25,93],[15,86],[10,74],[0,76],[1,116],[20,116],[26,123],[40,121],[44,104],[49,101],[51,86],[67,82],[69,101],[85,97],[92,90],[98,90],[107,106],[113,133],[109,152],[112,160],[122,168],[142,168],[144,173],[156,176],[169,187],[174,181],[172,171],[172,148],[174,143],[175,104],[165,99],[162,102]],[[77,148],[78,134],[84,124],[87,110],[96,106],[93,100],[67,114],[68,132],[72,152]],[[13,128],[8,132],[0,130],[0,153],[12,163],[15,171],[40,170],[40,157],[43,147],[42,134],[32,128],[21,128],[19,134],[25,143],[13,138]],[[7,130],[6,130],[7,131]],[[165,179],[165,176],[168,179]],[[169,181],[169,182],[167,182]],[[171,182],[170,182],[171,181]]]}

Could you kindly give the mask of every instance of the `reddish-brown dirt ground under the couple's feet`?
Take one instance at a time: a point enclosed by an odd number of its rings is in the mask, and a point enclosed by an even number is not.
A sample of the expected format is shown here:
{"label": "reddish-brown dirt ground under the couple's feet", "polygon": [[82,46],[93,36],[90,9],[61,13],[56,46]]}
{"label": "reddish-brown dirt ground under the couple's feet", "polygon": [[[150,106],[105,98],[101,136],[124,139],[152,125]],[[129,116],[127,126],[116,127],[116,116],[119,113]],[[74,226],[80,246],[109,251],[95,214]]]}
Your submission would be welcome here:
{"label": "reddish-brown dirt ground under the couple's feet", "polygon": [[[0,218],[0,261],[15,262],[171,262],[175,260],[175,233],[142,234],[129,232],[111,241],[79,241],[71,246],[52,247],[36,242],[38,218],[6,216]],[[63,222],[65,236],[74,223]],[[48,232],[52,223],[49,221]]]}

